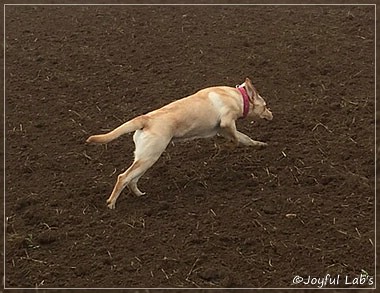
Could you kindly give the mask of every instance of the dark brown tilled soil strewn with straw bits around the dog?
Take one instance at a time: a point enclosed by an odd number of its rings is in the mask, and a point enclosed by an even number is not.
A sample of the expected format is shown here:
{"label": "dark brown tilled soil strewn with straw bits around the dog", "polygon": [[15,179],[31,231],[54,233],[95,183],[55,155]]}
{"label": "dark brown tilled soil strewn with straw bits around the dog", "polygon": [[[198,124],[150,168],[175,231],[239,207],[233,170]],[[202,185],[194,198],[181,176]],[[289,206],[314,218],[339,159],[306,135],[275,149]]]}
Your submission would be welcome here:
{"label": "dark brown tilled soil strewn with straw bits around the dog", "polygon": [[[374,8],[7,6],[7,287],[372,287]],[[116,210],[126,135],[91,134],[250,76],[274,120],[170,145]],[[364,284],[355,278],[367,274]],[[345,284],[344,278],[351,284]]]}

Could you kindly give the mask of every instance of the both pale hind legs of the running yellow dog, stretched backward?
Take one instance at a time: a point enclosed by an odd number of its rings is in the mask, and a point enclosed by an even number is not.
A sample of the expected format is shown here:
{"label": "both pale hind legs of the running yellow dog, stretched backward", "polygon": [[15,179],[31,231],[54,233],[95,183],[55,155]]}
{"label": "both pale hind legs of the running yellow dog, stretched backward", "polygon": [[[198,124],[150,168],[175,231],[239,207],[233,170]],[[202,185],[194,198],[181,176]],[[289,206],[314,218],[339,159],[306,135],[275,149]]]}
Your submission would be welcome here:
{"label": "both pale hind legs of the running yellow dog, stretched backward", "polygon": [[112,194],[107,200],[110,209],[115,208],[116,200],[125,186],[128,186],[136,196],[144,194],[138,189],[137,181],[159,159],[170,142],[169,138],[165,139],[139,130],[136,131],[133,140],[136,144],[135,160],[127,171],[118,176]]}

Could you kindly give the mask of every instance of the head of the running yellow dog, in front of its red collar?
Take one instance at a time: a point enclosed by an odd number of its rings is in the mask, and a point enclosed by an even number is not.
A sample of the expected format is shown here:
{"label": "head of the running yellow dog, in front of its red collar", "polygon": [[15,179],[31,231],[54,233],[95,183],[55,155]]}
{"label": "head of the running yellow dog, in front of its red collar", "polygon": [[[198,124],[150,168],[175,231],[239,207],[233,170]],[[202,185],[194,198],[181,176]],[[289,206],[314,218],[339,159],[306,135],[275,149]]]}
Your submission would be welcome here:
{"label": "head of the running yellow dog, in front of its red collar", "polygon": [[248,117],[251,117],[252,119],[264,118],[266,120],[272,120],[272,112],[269,110],[269,108],[267,108],[267,103],[265,102],[265,100],[253,87],[251,80],[247,77],[242,85],[245,87],[245,90],[247,91],[250,102]]}

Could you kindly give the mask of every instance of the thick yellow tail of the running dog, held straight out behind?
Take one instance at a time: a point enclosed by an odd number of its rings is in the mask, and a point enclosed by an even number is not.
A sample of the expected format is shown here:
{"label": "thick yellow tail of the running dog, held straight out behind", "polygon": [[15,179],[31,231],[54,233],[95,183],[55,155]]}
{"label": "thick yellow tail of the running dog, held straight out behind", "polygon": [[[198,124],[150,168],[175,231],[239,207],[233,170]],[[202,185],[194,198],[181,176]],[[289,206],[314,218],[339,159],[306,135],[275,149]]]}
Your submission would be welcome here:
{"label": "thick yellow tail of the running dog, held straight out behind", "polygon": [[125,122],[124,124],[120,125],[119,127],[115,128],[114,130],[105,133],[105,134],[98,134],[98,135],[92,135],[90,136],[86,142],[90,143],[108,143],[110,141],[113,141],[114,139],[118,138],[119,136],[144,128],[146,125],[146,119],[144,116],[136,117],[132,120],[129,120]]}

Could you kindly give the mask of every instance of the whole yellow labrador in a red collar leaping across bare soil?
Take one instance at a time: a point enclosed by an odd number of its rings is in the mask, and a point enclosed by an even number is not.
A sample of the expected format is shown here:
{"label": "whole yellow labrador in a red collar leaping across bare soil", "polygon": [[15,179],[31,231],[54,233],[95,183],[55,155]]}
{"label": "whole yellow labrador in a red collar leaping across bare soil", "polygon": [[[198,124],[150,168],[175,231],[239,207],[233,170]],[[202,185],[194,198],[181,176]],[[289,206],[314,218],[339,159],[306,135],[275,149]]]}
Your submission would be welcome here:
{"label": "whole yellow labrador in a red collar leaping across bare soil", "polygon": [[107,200],[110,209],[121,191],[128,186],[136,195],[144,193],[137,187],[140,177],[158,160],[170,141],[212,137],[220,134],[235,144],[266,146],[236,129],[238,118],[272,120],[271,111],[257,93],[249,78],[240,86],[209,87],[160,109],[125,122],[106,134],[90,136],[89,143],[107,143],[135,131],[135,159],[127,171],[120,174]]}

